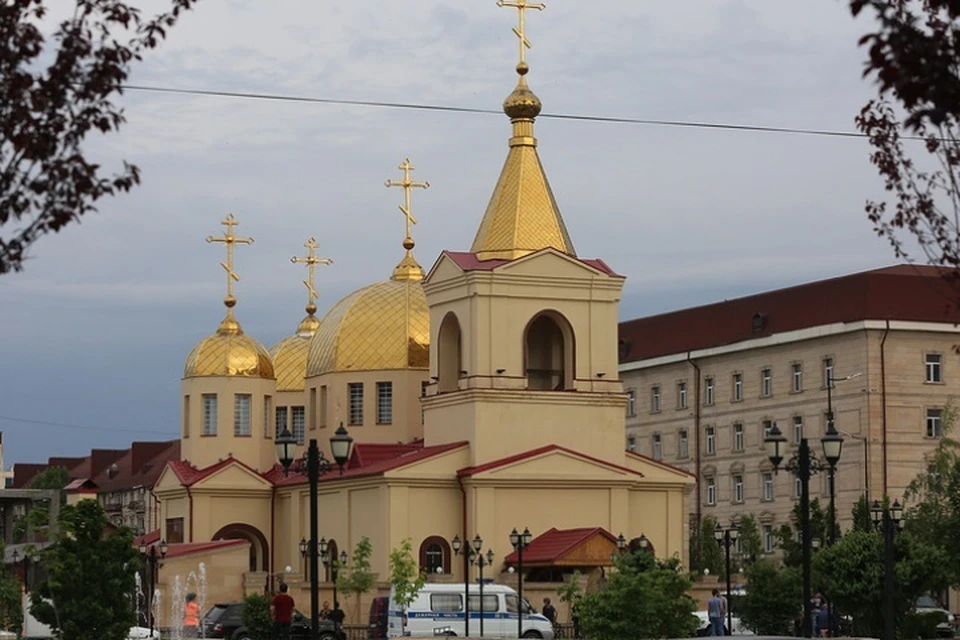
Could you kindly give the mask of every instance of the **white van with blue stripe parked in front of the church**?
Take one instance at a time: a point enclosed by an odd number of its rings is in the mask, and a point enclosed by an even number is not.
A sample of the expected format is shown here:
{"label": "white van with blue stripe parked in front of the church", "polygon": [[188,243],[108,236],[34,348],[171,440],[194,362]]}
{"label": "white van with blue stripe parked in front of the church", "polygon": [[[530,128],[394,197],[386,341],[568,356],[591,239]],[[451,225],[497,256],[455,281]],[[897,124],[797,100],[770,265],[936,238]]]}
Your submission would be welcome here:
{"label": "white van with blue stripe parked in front of the church", "polygon": [[[401,635],[416,638],[461,636],[464,634],[463,584],[426,584],[407,607],[406,625],[403,612],[390,592],[387,637]],[[480,636],[480,585],[470,585],[470,637]],[[483,585],[483,636],[516,638],[519,598],[517,592],[502,584]],[[523,601],[523,637],[553,640],[553,626],[547,618],[535,613]]]}

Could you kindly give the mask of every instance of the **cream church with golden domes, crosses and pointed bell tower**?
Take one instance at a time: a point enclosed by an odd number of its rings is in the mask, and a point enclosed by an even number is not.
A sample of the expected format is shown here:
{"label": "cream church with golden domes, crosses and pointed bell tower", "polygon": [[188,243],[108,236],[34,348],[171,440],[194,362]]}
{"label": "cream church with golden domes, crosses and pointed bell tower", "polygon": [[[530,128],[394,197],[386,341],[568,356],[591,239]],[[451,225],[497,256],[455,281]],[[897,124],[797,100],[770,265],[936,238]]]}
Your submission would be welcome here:
{"label": "cream church with golden domes, crosses and pointed bell tower", "polygon": [[[331,557],[347,554],[341,571],[369,540],[378,582],[364,598],[389,588],[389,554],[404,540],[431,580],[462,582],[476,574],[464,575],[452,541],[480,536],[494,558],[485,576],[509,584],[515,528],[533,537],[528,589],[539,581],[555,592],[574,569],[602,571],[621,534],[686,566],[694,477],[626,450],[624,276],[577,255],[537,152],[523,14],[542,7],[499,4],[520,13],[519,77],[503,103],[507,158],[469,251],[443,251],[426,272],[418,263],[411,194],[427,183],[404,161],[402,179],[387,183],[403,189],[407,219],[390,277],[318,318],[314,267],[329,260],[311,239],[294,258],[308,267],[306,317],[268,350],[235,309],[234,249],[251,240],[232,216],[207,239],[226,248],[226,314],[186,358],[180,460],[153,489],[160,527],[145,542],[166,543],[164,609],[174,582],[189,587],[203,563],[207,605],[279,579],[307,611],[309,487],[277,460],[285,429],[301,445],[316,439],[328,459],[338,427],[353,438],[343,469],[320,478],[318,527]],[[330,568],[321,571],[332,599]],[[365,606],[343,600],[348,621],[364,622]]]}

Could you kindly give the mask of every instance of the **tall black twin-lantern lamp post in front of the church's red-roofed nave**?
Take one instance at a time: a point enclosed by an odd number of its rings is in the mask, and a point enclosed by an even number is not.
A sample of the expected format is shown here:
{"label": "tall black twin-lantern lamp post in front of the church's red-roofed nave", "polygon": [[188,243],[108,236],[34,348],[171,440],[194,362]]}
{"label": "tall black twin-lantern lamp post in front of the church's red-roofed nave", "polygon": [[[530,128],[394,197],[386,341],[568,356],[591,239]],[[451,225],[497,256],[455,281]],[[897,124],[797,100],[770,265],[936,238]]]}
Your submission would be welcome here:
{"label": "tall black twin-lantern lamp post in front of the church's red-roofed nave", "polygon": [[[274,441],[277,448],[277,459],[283,465],[283,473],[286,475],[290,468],[294,471],[303,473],[306,471],[307,480],[310,483],[310,540],[307,541],[308,552],[310,554],[310,640],[319,640],[320,638],[320,554],[319,537],[317,522],[317,493],[320,483],[320,476],[329,473],[333,468],[323,454],[320,447],[317,446],[316,438],[310,439],[305,456],[294,460],[294,454],[297,450],[297,439],[290,433],[286,427],[277,436]],[[343,423],[330,438],[330,451],[333,453],[333,459],[343,473],[343,465],[350,459],[350,451],[353,449],[353,438],[343,428]],[[301,550],[302,550],[301,546]]]}

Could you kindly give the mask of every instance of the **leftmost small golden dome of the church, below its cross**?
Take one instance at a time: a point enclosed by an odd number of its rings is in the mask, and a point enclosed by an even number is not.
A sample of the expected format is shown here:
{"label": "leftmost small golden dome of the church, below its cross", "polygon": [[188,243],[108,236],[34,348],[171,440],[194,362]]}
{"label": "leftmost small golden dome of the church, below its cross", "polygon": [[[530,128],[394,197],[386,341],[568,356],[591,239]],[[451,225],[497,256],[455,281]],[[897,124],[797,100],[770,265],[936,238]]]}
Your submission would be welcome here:
{"label": "leftmost small golden dome of the church, below its cross", "polygon": [[183,377],[202,376],[273,377],[270,354],[260,342],[243,332],[233,317],[233,309],[227,309],[217,332],[198,342],[187,356]]}

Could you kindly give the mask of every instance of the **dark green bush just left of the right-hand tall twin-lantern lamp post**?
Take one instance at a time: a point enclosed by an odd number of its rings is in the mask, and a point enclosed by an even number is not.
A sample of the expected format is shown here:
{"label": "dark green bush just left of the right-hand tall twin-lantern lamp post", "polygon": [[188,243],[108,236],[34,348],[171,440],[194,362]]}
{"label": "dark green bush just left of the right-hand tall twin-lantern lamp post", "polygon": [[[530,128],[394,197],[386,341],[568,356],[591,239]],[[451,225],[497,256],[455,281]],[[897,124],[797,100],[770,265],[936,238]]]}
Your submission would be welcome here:
{"label": "dark green bush just left of the right-hand tall twin-lantern lamp post", "polygon": [[758,635],[794,635],[803,608],[800,572],[761,558],[747,569],[747,583],[737,609],[740,621]]}

